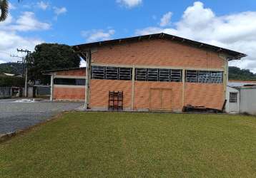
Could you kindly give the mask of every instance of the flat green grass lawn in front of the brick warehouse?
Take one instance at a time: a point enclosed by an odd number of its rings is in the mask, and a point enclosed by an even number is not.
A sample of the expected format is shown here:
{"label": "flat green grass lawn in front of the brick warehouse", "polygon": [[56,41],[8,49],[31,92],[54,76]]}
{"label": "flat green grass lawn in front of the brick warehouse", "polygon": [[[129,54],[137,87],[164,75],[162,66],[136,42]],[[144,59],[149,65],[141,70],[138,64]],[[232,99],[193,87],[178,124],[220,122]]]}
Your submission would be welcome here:
{"label": "flat green grass lawn in front of the brick warehouse", "polygon": [[256,177],[256,117],[69,112],[0,143],[0,177]]}

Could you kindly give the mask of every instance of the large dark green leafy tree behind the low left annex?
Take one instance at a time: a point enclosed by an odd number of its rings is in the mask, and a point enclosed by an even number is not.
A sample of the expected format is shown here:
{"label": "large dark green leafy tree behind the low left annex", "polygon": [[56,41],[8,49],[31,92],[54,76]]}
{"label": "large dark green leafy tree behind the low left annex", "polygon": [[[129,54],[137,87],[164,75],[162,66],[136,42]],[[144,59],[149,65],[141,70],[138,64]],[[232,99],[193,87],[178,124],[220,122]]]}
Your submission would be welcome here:
{"label": "large dark green leafy tree behind the low left annex", "polygon": [[43,83],[49,83],[49,78],[42,74],[43,71],[80,66],[80,57],[72,47],[57,43],[37,45],[35,51],[29,55],[28,61],[29,79],[40,79]]}

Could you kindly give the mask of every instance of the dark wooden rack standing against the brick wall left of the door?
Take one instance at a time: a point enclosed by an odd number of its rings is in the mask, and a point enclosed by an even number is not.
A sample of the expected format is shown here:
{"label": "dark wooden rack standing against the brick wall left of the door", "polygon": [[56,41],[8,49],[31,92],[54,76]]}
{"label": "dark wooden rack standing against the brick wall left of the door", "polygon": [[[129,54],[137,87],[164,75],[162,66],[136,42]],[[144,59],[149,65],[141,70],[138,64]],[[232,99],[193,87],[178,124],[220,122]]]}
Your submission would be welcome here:
{"label": "dark wooden rack standing against the brick wall left of the door", "polygon": [[109,91],[109,110],[123,110],[123,100],[122,91]]}

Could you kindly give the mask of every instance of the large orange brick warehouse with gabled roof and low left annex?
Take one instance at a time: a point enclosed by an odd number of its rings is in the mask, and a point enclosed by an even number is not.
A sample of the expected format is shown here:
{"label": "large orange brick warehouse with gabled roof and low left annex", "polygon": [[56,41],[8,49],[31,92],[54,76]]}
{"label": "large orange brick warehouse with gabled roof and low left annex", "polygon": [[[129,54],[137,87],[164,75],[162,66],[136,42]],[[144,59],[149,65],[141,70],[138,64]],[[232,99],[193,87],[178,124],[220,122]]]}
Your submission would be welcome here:
{"label": "large orange brick warehouse with gabled roof and low left annex", "polygon": [[74,46],[87,68],[51,70],[52,100],[94,110],[221,109],[228,61],[244,53],[157,33]]}

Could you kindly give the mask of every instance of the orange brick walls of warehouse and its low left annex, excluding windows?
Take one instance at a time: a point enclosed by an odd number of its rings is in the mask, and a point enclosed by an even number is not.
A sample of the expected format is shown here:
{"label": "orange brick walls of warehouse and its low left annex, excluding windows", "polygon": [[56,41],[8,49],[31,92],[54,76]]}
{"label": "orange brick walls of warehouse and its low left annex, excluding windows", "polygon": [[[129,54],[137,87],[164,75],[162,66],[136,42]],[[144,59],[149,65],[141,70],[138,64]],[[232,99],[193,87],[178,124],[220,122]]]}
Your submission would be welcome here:
{"label": "orange brick walls of warehouse and its low left annex, excluding windows", "polygon": [[[92,52],[92,66],[127,66],[152,68],[179,68],[182,70],[221,70],[225,72],[225,59],[219,53],[188,46],[166,39],[120,43],[100,46]],[[184,74],[184,73],[183,73]],[[58,75],[84,75],[70,71]],[[184,77],[183,77],[184,80]],[[225,76],[224,76],[224,80]],[[54,99],[84,100],[84,88],[79,90],[54,88]],[[221,109],[225,101],[225,82],[170,83],[126,80],[91,80],[89,108],[108,108],[109,91],[124,92],[126,110],[181,111],[184,105]],[[70,93],[70,94],[69,94]],[[72,93],[72,94],[71,94]],[[157,99],[160,98],[160,99]]]}

